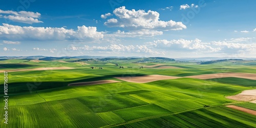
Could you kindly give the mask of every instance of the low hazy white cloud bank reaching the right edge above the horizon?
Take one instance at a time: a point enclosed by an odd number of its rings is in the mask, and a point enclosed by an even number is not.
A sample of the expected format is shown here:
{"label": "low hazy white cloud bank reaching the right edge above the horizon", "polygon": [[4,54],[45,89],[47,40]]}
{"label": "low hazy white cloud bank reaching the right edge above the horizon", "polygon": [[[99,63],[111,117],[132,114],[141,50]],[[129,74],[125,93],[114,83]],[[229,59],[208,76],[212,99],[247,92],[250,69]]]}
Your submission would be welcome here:
{"label": "low hazy white cloud bank reaching the right edge above the horizon", "polygon": [[183,51],[183,52],[201,52],[201,53],[224,53],[224,54],[237,54],[241,51],[251,52],[256,50],[256,43],[253,41],[255,38],[232,38],[224,41],[210,41],[202,42],[200,39],[186,40],[154,40],[147,42],[147,46],[159,50],[167,51]]}

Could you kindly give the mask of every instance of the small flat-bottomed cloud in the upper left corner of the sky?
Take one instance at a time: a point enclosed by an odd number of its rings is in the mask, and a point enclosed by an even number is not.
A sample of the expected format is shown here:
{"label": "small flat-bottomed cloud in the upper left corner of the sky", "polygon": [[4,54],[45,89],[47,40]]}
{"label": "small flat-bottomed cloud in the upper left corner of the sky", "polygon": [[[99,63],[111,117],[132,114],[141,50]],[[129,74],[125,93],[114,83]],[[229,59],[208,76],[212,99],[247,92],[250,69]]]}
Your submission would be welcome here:
{"label": "small flat-bottomed cloud in the upper left corner of the sky", "polygon": [[33,24],[33,23],[43,23],[42,21],[38,20],[41,16],[38,12],[28,12],[28,11],[4,11],[0,9],[1,18],[10,19],[14,22],[26,23],[26,24]]}

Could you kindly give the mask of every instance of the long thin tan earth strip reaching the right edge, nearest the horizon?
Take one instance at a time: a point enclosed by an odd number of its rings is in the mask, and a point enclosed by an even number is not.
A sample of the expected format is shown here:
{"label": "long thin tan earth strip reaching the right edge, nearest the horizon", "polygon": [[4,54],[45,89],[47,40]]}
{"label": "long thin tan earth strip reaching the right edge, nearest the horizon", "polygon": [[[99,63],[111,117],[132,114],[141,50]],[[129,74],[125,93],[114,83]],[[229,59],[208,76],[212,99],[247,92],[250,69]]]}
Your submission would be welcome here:
{"label": "long thin tan earth strip reaching the right edge, nearest the horizon", "polygon": [[197,79],[214,79],[214,78],[224,78],[224,77],[238,77],[238,78],[256,80],[256,74],[254,73],[216,73],[216,74],[186,76],[186,78],[197,78]]}

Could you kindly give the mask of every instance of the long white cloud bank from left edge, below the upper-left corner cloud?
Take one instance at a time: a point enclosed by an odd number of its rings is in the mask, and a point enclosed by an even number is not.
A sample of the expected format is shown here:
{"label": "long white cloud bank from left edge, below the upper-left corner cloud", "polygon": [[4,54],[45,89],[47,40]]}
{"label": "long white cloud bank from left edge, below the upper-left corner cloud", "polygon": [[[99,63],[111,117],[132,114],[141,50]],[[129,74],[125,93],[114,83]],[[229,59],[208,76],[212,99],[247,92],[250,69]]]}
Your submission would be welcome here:
{"label": "long white cloud bank from left edge, below the upper-left corner cloud", "polygon": [[96,27],[78,26],[77,30],[51,27],[20,27],[9,24],[0,26],[0,37],[5,39],[32,40],[86,40],[103,38]]}

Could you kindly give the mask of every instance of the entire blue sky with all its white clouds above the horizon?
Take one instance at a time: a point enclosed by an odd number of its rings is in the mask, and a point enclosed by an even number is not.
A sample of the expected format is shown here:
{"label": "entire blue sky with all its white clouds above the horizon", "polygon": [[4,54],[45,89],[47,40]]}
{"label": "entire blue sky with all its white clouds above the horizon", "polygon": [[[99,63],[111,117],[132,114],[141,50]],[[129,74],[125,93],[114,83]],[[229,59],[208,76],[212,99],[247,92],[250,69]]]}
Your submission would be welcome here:
{"label": "entire blue sky with all its white clouds above the horizon", "polygon": [[0,2],[0,56],[256,57],[256,1]]}

